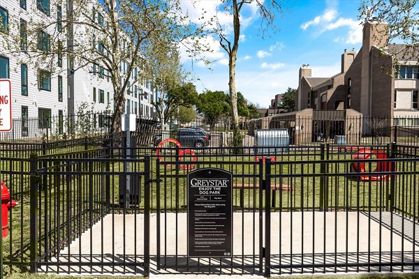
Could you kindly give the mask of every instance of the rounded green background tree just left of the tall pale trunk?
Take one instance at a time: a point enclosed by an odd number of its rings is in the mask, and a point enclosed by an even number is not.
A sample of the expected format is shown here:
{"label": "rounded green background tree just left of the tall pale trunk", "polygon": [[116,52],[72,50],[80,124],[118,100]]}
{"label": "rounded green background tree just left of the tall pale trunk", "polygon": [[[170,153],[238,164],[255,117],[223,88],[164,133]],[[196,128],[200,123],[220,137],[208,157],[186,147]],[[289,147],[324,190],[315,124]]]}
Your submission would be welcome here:
{"label": "rounded green background tree just left of the tall pale trunk", "polygon": [[230,110],[230,104],[228,96],[223,91],[206,91],[199,95],[196,108],[198,112],[204,114],[211,128],[214,128],[220,117]]}

